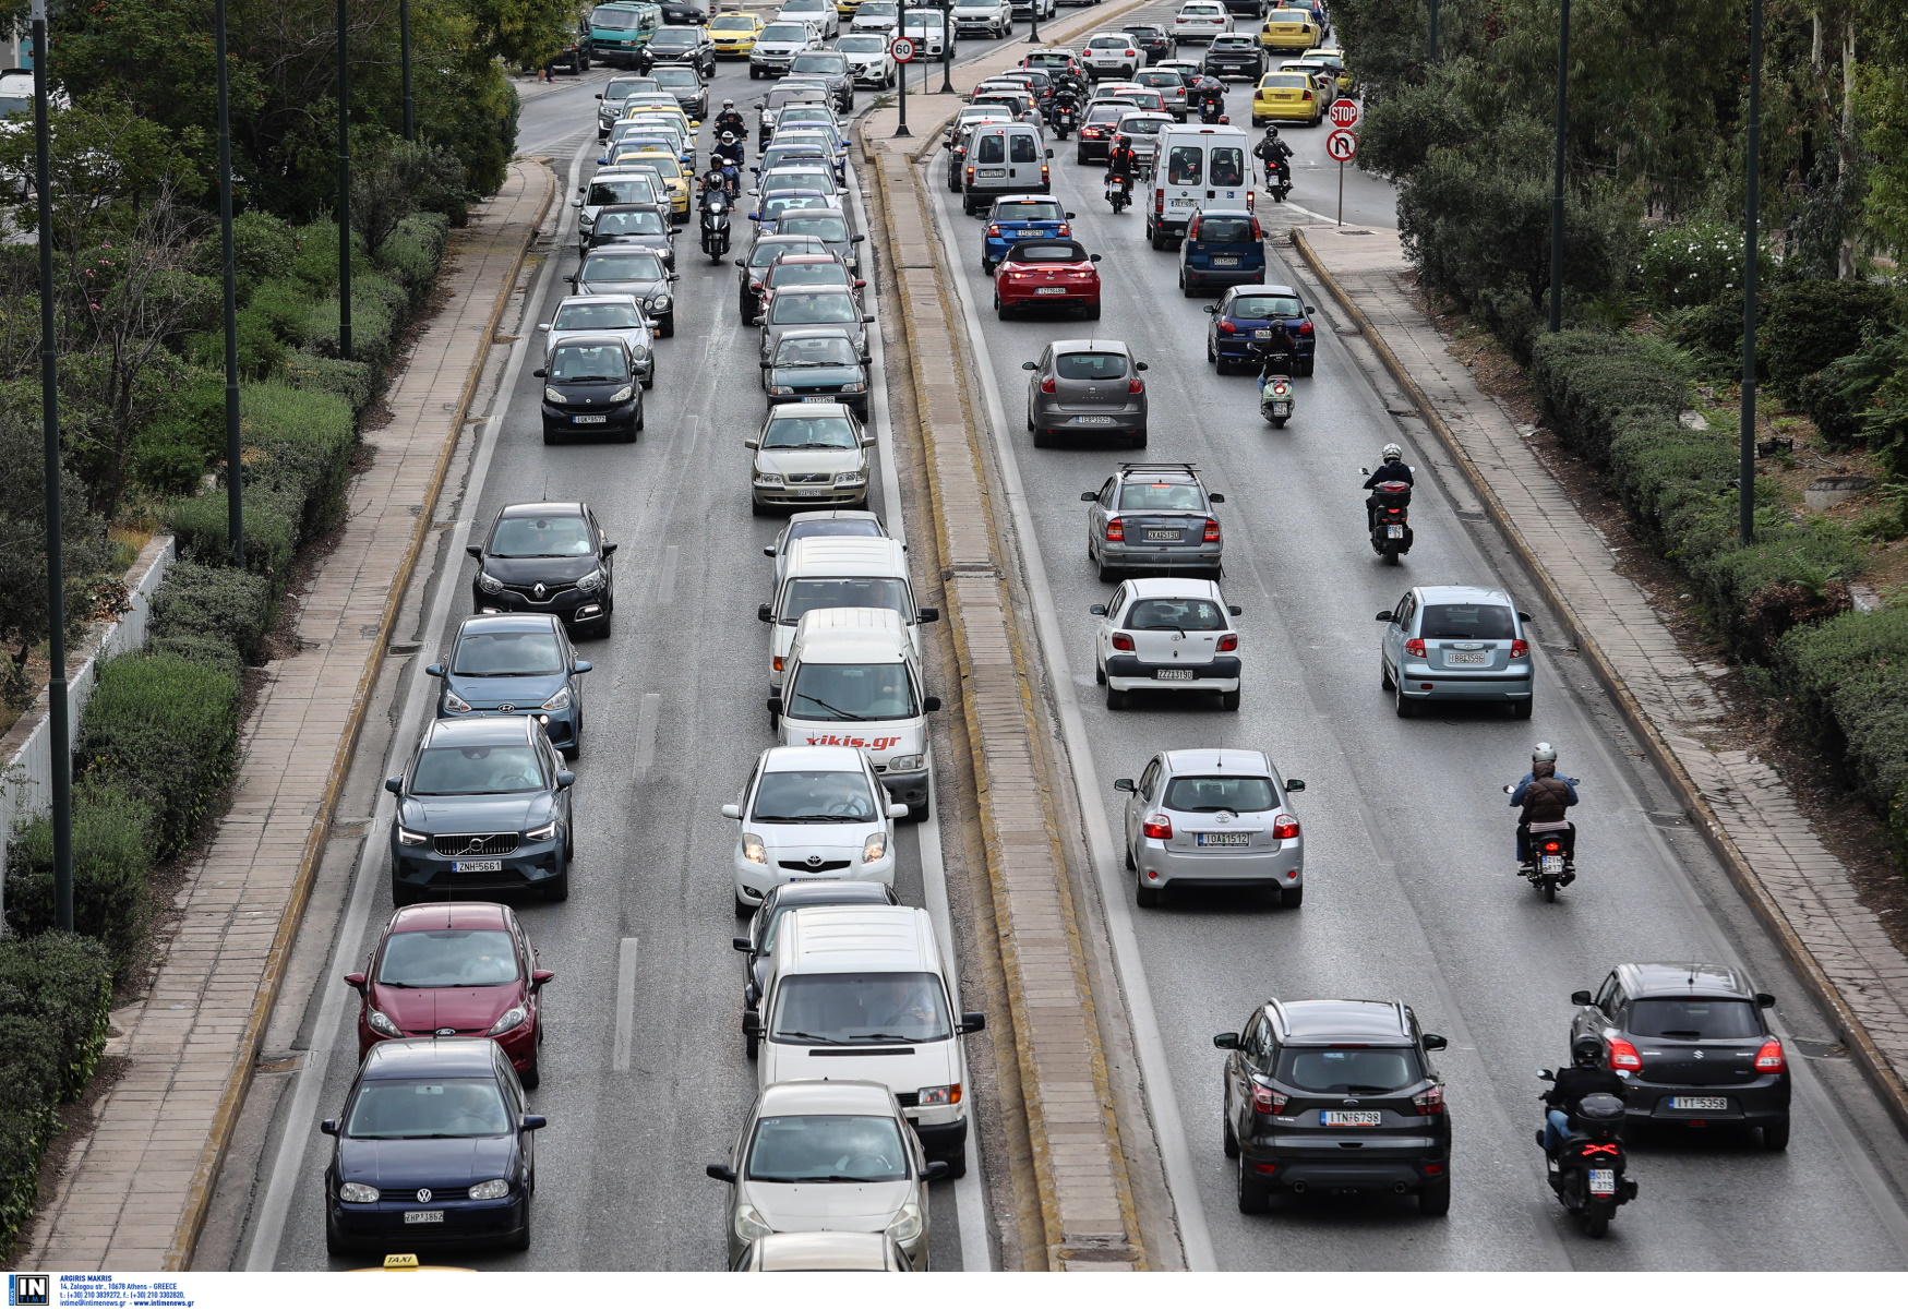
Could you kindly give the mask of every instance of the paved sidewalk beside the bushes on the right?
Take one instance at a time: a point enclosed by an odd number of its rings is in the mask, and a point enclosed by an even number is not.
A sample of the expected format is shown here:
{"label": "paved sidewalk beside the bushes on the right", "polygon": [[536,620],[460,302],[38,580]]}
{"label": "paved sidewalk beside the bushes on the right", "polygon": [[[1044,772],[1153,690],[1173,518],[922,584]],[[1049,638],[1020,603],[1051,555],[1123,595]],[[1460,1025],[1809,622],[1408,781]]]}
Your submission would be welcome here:
{"label": "paved sidewalk beside the bushes on the right", "polygon": [[1397,231],[1317,225],[1292,229],[1292,238],[1576,629],[1584,658],[1689,816],[1908,1127],[1908,957],[1858,902],[1780,774],[1710,732],[1723,713],[1711,673],[1683,656],[1601,534],[1412,303]]}

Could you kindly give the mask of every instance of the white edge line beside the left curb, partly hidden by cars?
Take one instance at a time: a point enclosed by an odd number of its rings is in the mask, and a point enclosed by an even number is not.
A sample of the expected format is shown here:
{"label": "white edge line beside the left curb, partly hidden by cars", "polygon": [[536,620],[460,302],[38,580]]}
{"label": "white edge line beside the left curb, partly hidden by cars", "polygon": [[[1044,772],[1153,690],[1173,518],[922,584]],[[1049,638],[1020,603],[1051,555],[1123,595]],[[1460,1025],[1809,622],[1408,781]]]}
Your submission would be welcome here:
{"label": "white edge line beside the left curb, partly hidden by cars", "polygon": [[[567,193],[576,191],[576,174],[582,168],[584,151],[578,149],[570,158],[569,181],[565,183]],[[538,271],[534,284],[530,288],[530,299],[525,305],[525,313],[534,311],[542,305],[550,294],[550,282],[557,275],[557,263],[561,263],[559,254],[551,250],[550,257],[544,259],[544,267]],[[490,460],[496,454],[498,433],[502,433],[502,420],[509,416],[511,410],[511,379],[523,376],[523,362],[530,351],[530,339],[534,334],[523,334],[509,351],[509,360],[504,368],[502,397],[498,399],[498,408],[488,416],[477,433],[477,452],[471,456],[469,481],[460,498],[460,519],[458,526],[450,532],[450,542],[445,545],[445,570],[437,578],[437,591],[431,597],[429,620],[424,625],[427,637],[443,635],[450,624],[450,603],[462,595],[460,585],[460,563],[464,559],[464,545],[469,542],[471,534],[471,515],[475,515],[477,505],[483,503],[485,479],[490,475]],[[429,679],[424,673],[424,662],[418,660],[410,669],[410,686],[404,692],[404,711],[399,719],[397,732],[391,734],[391,761],[404,759],[418,734],[424,730],[424,711],[431,702],[427,694]],[[338,931],[338,946],[332,950],[332,963],[324,971],[324,978],[334,978],[338,972],[349,967],[355,959],[359,946],[364,940],[366,927],[370,925],[370,902],[372,890],[378,883],[378,873],[385,868],[385,850],[378,843],[378,833],[385,829],[395,814],[397,801],[389,791],[378,791],[378,807],[370,822],[370,837],[364,841],[364,854],[359,858],[357,873],[353,873],[351,900],[345,908],[343,923]],[[271,1161],[271,1177],[265,1184],[265,1197],[258,1207],[258,1220],[252,1226],[252,1245],[246,1251],[246,1272],[269,1272],[279,1264],[279,1245],[284,1241],[284,1220],[292,1211],[294,1190],[301,1182],[301,1163],[305,1159],[305,1150],[311,1144],[307,1127],[317,1117],[319,1096],[324,1093],[324,1077],[330,1070],[332,1054],[338,1045],[351,1043],[353,1037],[340,1041],[340,1030],[343,1028],[343,1011],[347,997],[343,990],[330,992],[319,1009],[319,1020],[311,1030],[311,1051],[305,1062],[298,1070],[298,1083],[292,1087],[292,1108],[286,1112],[282,1121],[282,1136],[279,1138],[279,1150]]]}

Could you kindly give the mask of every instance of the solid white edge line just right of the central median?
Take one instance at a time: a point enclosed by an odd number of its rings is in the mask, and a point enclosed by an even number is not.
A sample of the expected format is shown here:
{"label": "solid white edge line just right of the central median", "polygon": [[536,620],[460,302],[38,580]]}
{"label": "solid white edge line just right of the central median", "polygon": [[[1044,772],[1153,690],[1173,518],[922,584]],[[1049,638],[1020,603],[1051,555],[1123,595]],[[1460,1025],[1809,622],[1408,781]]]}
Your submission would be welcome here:
{"label": "solid white edge line just right of the central median", "polygon": [[[939,189],[929,191],[935,194],[933,214],[941,246],[952,254],[960,250],[960,242],[952,236],[944,196]],[[1114,965],[1126,984],[1126,1009],[1133,1024],[1133,1049],[1139,1054],[1141,1075],[1147,1081],[1147,1104],[1152,1108],[1152,1127],[1160,1142],[1166,1186],[1173,1194],[1179,1241],[1185,1247],[1189,1270],[1215,1270],[1219,1264],[1212,1251],[1212,1234],[1206,1230],[1206,1207],[1200,1201],[1198,1175],[1192,1169],[1192,1154],[1187,1148],[1185,1123],[1179,1119],[1179,1100],[1173,1095],[1166,1041],[1160,1037],[1160,1024],[1152,1013],[1152,988],[1147,982],[1147,969],[1139,957],[1139,938],[1133,934],[1133,911],[1126,900],[1126,885],[1114,868],[1114,843],[1112,831],[1107,826],[1107,809],[1101,805],[1099,795],[1093,793],[1093,753],[1088,747],[1086,725],[1080,721],[1080,704],[1074,698],[1072,671],[1067,664],[1067,645],[1053,610],[1053,591],[1047,587],[1047,566],[1040,555],[1040,538],[1034,534],[1034,517],[1027,505],[1027,488],[1021,484],[1021,467],[1015,461],[1007,414],[1002,408],[1000,387],[996,385],[986,355],[986,334],[981,330],[981,317],[967,297],[967,278],[956,276],[952,282],[967,322],[967,339],[973,343],[975,372],[981,374],[981,389],[986,395],[986,414],[994,435],[994,450],[1000,458],[1000,475],[1006,482],[1007,507],[1013,515],[1013,530],[1021,538],[1021,555],[1027,563],[1027,589],[1034,599],[1034,627],[1040,631],[1042,652],[1053,679],[1053,698],[1061,713],[1061,744],[1067,747],[1068,759],[1074,761],[1068,772],[1072,774],[1080,814],[1086,822],[1093,871],[1099,875]]]}

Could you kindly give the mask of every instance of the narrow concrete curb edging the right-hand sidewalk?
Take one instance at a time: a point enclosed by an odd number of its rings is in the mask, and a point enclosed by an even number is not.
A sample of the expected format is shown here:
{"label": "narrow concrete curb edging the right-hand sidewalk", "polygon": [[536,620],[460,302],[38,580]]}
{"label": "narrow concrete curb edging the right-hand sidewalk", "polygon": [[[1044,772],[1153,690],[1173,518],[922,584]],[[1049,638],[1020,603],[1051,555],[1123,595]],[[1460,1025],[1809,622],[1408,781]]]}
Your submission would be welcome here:
{"label": "narrow concrete curb edging the right-hand sidewalk", "polygon": [[1412,399],[1412,404],[1418,406],[1418,416],[1425,421],[1425,425],[1433,433],[1437,433],[1437,439],[1444,444],[1444,452],[1452,458],[1458,469],[1463,471],[1465,481],[1471,484],[1471,490],[1477,494],[1479,503],[1484,507],[1484,513],[1490,515],[1490,521],[1498,526],[1498,530],[1504,534],[1504,540],[1517,553],[1517,559],[1523,563],[1524,570],[1530,574],[1532,580],[1536,580],[1551,610],[1555,610],[1557,616],[1570,629],[1578,652],[1589,664],[1589,669],[1595,673],[1597,681],[1603,685],[1610,700],[1616,704],[1618,711],[1624,715],[1624,723],[1628,723],[1629,730],[1637,734],[1637,740],[1649,753],[1650,763],[1654,763],[1658,772],[1662,772],[1662,776],[1668,780],[1670,789],[1675,791],[1677,801],[1696,820],[1704,843],[1708,843],[1710,850],[1713,850],[1715,858],[1723,864],[1723,870],[1729,873],[1729,881],[1734,883],[1736,890],[1740,890],[1742,896],[1750,902],[1750,910],[1755,911],[1755,917],[1763,923],[1763,927],[1774,934],[1776,942],[1782,948],[1782,953],[1790,961],[1790,967],[1795,969],[1795,972],[1801,976],[1807,988],[1834,1016],[1834,1022],[1841,1030],[1841,1035],[1849,1043],[1849,1049],[1855,1053],[1856,1064],[1860,1066],[1862,1074],[1868,1077],[1870,1085],[1874,1085],[1876,1093],[1881,1096],[1881,1102],[1889,1108],[1889,1114],[1895,1117],[1895,1123],[1904,1133],[1908,1133],[1908,1085],[1904,1085],[1902,1079],[1889,1066],[1887,1058],[1881,1054],[1881,1049],[1876,1045],[1874,1037],[1870,1037],[1866,1026],[1860,1022],[1860,1018],[1856,1018],[1855,1011],[1843,999],[1841,990],[1835,988],[1835,984],[1816,963],[1815,955],[1809,953],[1809,948],[1795,934],[1795,929],[1788,923],[1788,917],[1782,913],[1782,908],[1769,894],[1769,889],[1763,887],[1761,877],[1757,877],[1755,870],[1744,858],[1734,839],[1731,839],[1731,835],[1723,829],[1723,824],[1717,818],[1715,809],[1710,805],[1710,801],[1702,795],[1702,789],[1683,768],[1683,763],[1675,757],[1675,751],[1670,749],[1670,744],[1664,740],[1662,730],[1645,713],[1637,698],[1629,692],[1629,686],[1624,683],[1622,675],[1610,664],[1608,656],[1605,656],[1597,641],[1589,635],[1587,627],[1578,622],[1576,612],[1570,608],[1561,587],[1557,587],[1549,570],[1544,568],[1544,563],[1530,549],[1528,542],[1524,542],[1523,532],[1517,528],[1517,521],[1509,513],[1505,513],[1504,503],[1498,500],[1496,492],[1492,492],[1490,484],[1484,481],[1484,475],[1479,473],[1477,465],[1465,454],[1462,442],[1444,425],[1444,420],[1431,404],[1431,399],[1423,393],[1423,389],[1410,376],[1410,372],[1404,370],[1397,355],[1391,353],[1391,347],[1385,345],[1383,336],[1378,332],[1378,328],[1372,326],[1370,318],[1366,318],[1364,311],[1357,307],[1351,296],[1345,294],[1345,288],[1339,286],[1338,278],[1334,278],[1332,273],[1324,267],[1324,263],[1318,259],[1318,252],[1311,248],[1311,242],[1305,238],[1305,233],[1299,231],[1297,227],[1292,229],[1292,246],[1294,250],[1299,252],[1299,257],[1305,259],[1305,265],[1311,269],[1313,276],[1317,276],[1318,282],[1324,284],[1328,292],[1332,292],[1332,299],[1338,301],[1338,307],[1355,324],[1358,324],[1358,332],[1372,347],[1372,353],[1378,355],[1378,358],[1383,362],[1385,372],[1391,374],[1391,379],[1397,381],[1399,387],[1404,391],[1404,395]]}

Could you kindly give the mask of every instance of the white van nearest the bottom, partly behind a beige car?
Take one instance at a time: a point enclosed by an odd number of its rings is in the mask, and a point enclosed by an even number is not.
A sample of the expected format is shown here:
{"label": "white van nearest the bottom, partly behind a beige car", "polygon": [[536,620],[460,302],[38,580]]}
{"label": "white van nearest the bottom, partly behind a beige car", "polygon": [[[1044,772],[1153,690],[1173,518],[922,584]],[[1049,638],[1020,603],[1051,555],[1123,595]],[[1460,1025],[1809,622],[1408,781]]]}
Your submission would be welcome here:
{"label": "white van nearest the bottom, partly behind a beige car", "polygon": [[925,910],[807,906],[777,927],[761,1009],[742,1013],[742,1034],[761,1039],[761,1087],[853,1077],[893,1091],[927,1156],[958,1178],[973,1098],[962,1034],[986,1018],[956,1005]]}

